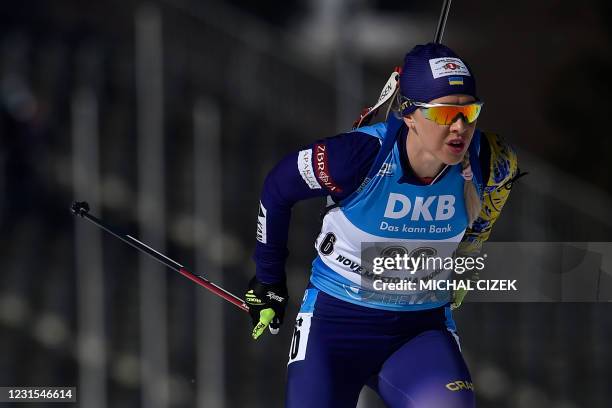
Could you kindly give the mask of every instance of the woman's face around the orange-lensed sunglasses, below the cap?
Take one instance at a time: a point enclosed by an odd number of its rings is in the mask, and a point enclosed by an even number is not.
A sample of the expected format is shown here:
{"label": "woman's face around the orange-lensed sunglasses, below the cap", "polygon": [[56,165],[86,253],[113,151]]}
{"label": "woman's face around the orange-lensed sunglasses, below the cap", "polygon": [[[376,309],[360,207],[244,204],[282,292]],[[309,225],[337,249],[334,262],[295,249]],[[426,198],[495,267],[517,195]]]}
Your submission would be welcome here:
{"label": "woman's face around the orange-lensed sunglasses, below the cap", "polygon": [[[474,101],[474,97],[470,95],[448,95],[429,103],[463,105]],[[442,163],[450,165],[461,162],[476,129],[476,121],[468,123],[461,115],[450,125],[438,125],[426,119],[420,109],[404,117],[404,122],[410,129],[409,150],[431,155]]]}

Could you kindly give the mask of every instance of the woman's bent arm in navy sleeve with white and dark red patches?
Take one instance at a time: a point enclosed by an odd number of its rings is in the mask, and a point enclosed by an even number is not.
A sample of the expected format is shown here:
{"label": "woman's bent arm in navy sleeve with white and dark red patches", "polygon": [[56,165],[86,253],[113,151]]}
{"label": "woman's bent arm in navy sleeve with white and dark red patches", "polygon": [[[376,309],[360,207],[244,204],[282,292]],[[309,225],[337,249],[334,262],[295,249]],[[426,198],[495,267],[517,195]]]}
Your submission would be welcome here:
{"label": "woman's bent arm in navy sleeve with white and dark red patches", "polygon": [[285,281],[293,205],[328,195],[334,200],[346,198],[367,175],[379,148],[376,137],[361,132],[344,133],[286,156],[270,171],[261,193],[253,256],[260,282]]}

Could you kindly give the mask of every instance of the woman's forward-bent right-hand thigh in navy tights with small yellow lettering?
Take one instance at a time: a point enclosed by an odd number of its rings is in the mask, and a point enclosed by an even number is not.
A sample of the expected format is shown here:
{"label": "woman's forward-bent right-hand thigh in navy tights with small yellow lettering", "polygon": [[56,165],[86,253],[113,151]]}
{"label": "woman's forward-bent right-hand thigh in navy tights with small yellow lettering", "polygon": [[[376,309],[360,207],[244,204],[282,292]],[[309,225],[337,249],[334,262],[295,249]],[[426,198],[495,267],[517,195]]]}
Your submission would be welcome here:
{"label": "woman's forward-bent right-hand thigh in navy tights with small yellow lettering", "polygon": [[471,408],[474,387],[455,338],[429,330],[404,344],[378,374],[378,393],[389,407]]}

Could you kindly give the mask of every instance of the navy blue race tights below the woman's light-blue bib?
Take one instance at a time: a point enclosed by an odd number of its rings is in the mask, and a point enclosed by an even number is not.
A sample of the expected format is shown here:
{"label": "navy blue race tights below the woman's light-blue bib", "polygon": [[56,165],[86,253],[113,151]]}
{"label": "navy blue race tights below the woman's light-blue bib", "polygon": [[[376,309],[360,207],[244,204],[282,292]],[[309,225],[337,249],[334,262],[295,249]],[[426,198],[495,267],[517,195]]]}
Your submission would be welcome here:
{"label": "navy blue race tights below the woman's light-blue bib", "polygon": [[319,291],[312,313],[305,358],[288,366],[287,407],[354,408],[366,384],[389,407],[474,406],[471,389],[447,387],[472,380],[445,308],[391,312]]}

